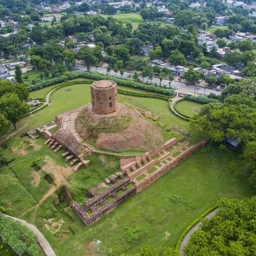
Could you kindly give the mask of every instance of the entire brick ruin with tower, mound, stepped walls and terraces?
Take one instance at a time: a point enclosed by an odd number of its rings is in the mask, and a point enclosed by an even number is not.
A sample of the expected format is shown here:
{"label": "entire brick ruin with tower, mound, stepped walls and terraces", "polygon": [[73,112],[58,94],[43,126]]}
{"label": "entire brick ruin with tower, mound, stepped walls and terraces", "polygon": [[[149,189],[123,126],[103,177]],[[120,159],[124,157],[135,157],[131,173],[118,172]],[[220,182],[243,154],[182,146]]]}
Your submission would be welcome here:
{"label": "entire brick ruin with tower, mound, stepped walls and terraces", "polygon": [[[37,133],[47,138],[45,144],[51,150],[65,150],[61,156],[74,167],[74,172],[83,166],[88,167],[88,155],[119,157],[120,170],[115,175],[89,189],[88,199],[82,204],[71,203],[71,207],[88,226],[206,144],[206,140],[191,145],[176,138],[164,143],[156,124],[147,121],[140,111],[117,102],[117,85],[114,81],[95,81],[91,85],[91,96],[91,103],[56,116],[53,126],[58,129],[54,133],[49,131],[52,126],[37,128]],[[129,146],[130,142],[133,142],[133,147],[146,153],[116,154],[116,151],[133,149]]]}

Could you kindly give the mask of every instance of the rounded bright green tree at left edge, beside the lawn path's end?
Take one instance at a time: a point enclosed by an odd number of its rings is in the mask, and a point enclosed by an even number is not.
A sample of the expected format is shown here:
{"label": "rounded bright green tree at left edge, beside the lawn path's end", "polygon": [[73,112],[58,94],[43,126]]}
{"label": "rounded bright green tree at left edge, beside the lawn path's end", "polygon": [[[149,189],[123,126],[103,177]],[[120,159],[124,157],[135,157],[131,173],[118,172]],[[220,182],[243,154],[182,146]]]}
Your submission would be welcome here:
{"label": "rounded bright green tree at left edge, beside the lawn path's end", "polygon": [[16,129],[16,123],[29,112],[29,105],[22,102],[15,93],[6,93],[0,98],[0,111]]}

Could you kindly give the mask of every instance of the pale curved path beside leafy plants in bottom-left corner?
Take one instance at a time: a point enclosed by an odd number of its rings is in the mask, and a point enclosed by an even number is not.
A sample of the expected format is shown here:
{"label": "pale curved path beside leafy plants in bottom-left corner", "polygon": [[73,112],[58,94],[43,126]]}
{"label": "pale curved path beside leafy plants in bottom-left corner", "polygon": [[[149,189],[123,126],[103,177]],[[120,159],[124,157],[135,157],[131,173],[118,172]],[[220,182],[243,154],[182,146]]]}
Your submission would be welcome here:
{"label": "pale curved path beside leafy plants in bottom-left corner", "polygon": [[4,214],[5,217],[9,217],[12,220],[16,220],[19,221],[19,223],[22,223],[22,225],[26,226],[29,228],[29,230],[31,230],[33,232],[33,234],[36,235],[37,237],[37,241],[40,244],[40,247],[42,247],[44,254],[46,254],[46,256],[56,256],[53,248],[50,246],[49,242],[46,240],[46,238],[43,236],[43,234],[40,232],[40,230],[38,230],[36,228],[36,226],[27,223],[25,220],[20,220],[16,217],[12,217],[9,215]]}

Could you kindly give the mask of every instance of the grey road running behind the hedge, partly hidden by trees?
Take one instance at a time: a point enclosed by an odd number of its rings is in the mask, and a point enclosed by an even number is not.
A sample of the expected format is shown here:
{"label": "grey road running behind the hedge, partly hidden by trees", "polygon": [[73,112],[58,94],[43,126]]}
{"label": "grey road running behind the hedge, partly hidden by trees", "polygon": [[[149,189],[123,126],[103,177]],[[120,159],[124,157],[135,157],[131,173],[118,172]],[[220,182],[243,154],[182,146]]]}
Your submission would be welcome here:
{"label": "grey road running behind the hedge, partly hidden by trees", "polygon": [[[87,71],[86,67],[82,64],[76,64],[75,68],[78,69],[79,71]],[[106,67],[91,67],[91,72],[98,72],[101,74],[107,74],[106,71]],[[119,74],[119,72],[116,74],[114,71],[110,71],[109,75],[113,76],[113,77],[117,77],[117,78],[121,78],[121,75]],[[129,72],[124,72],[123,74],[123,78],[133,78],[133,73],[129,73]],[[139,77],[140,81],[143,80],[142,77]],[[144,81],[147,81],[147,78],[144,78]],[[157,84],[159,85],[160,80],[159,78],[153,78],[152,79],[152,84]],[[167,88],[169,88],[169,81],[166,79],[163,79],[163,81],[161,81],[161,85],[165,85]],[[211,92],[213,92],[216,95],[220,95],[221,92],[217,92],[215,90],[209,89],[209,88],[203,88],[203,87],[195,87],[194,85],[185,85],[185,83],[182,82],[178,82],[178,81],[172,81],[171,82],[171,88],[175,88],[176,90],[178,90],[178,92],[185,92],[185,93],[191,93],[192,95],[209,95]]]}

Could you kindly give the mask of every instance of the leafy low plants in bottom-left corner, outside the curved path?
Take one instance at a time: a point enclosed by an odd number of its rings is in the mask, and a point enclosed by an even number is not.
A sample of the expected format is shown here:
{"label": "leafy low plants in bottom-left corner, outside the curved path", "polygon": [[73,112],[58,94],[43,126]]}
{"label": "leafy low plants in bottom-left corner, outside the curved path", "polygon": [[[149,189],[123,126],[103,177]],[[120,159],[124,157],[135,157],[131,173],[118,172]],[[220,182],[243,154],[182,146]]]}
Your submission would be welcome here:
{"label": "leafy low plants in bottom-left corner, outside the curved path", "polygon": [[27,227],[4,217],[0,213],[0,234],[4,243],[8,243],[17,254],[27,253],[31,256],[39,256],[40,248],[37,237]]}

